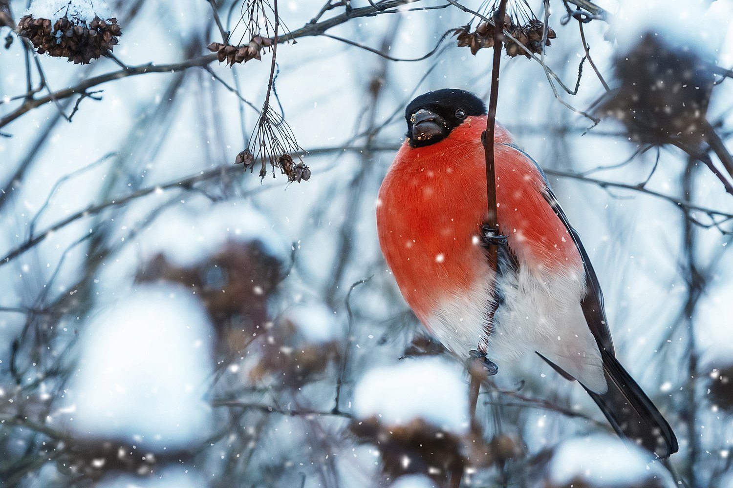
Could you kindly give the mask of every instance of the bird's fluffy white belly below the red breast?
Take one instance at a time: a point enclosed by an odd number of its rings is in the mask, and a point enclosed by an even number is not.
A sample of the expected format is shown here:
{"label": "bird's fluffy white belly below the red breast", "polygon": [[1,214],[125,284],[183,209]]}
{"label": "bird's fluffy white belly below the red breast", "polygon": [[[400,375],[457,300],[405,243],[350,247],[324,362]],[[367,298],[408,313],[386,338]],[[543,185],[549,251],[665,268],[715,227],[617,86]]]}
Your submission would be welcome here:
{"label": "bird's fluffy white belly below the red breast", "polygon": [[[483,276],[493,274],[489,269]],[[487,337],[493,301],[490,282],[476,282],[469,293],[436,304],[427,326],[443,345],[461,359],[486,346],[493,361],[516,361],[540,353],[596,392],[606,390],[597,343],[581,309],[585,277],[572,271],[528,271],[499,276],[503,300]]]}

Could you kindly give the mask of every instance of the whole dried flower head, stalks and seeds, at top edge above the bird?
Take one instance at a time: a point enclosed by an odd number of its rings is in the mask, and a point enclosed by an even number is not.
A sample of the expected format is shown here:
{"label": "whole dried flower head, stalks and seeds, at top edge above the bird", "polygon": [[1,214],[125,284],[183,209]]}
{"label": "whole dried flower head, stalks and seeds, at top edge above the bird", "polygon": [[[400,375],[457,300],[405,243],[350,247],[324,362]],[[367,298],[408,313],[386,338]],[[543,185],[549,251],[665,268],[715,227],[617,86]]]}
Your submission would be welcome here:
{"label": "whole dried flower head, stalks and seeds, at top edge above the bird", "polygon": [[[479,12],[484,12],[487,18],[495,18],[498,10],[498,0],[485,1]],[[542,53],[543,45],[550,45],[550,39],[557,35],[550,26],[545,26],[542,20],[535,17],[526,0],[515,0],[507,3],[507,14],[504,15],[504,31],[508,31],[515,40],[507,37],[504,40],[504,50],[507,56],[515,57],[519,54],[530,57],[529,53]],[[457,37],[458,47],[468,46],[471,54],[476,55],[481,48],[493,48],[496,29],[493,23],[479,22],[476,30],[471,31],[471,23],[453,31]],[[544,40],[544,42],[543,42]],[[518,44],[517,44],[518,43]],[[521,48],[524,46],[526,50]],[[529,51],[529,53],[527,53]]]}

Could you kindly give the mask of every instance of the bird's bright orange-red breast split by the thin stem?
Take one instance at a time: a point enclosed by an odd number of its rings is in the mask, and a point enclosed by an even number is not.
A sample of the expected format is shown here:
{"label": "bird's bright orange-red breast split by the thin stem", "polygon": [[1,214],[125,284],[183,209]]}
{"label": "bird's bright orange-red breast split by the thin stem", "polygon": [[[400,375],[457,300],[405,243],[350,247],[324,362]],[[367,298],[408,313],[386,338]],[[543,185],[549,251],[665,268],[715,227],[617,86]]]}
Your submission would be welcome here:
{"label": "bird's bright orange-red breast split by the thin stem", "polygon": [[[413,148],[405,141],[380,188],[382,252],[423,323],[435,304],[486,279],[480,239],[487,219],[485,128],[486,116],[474,116],[430,146]],[[494,140],[499,227],[520,265],[582,274],[578,249],[543,196],[539,169],[508,146],[512,135],[499,124]]]}

